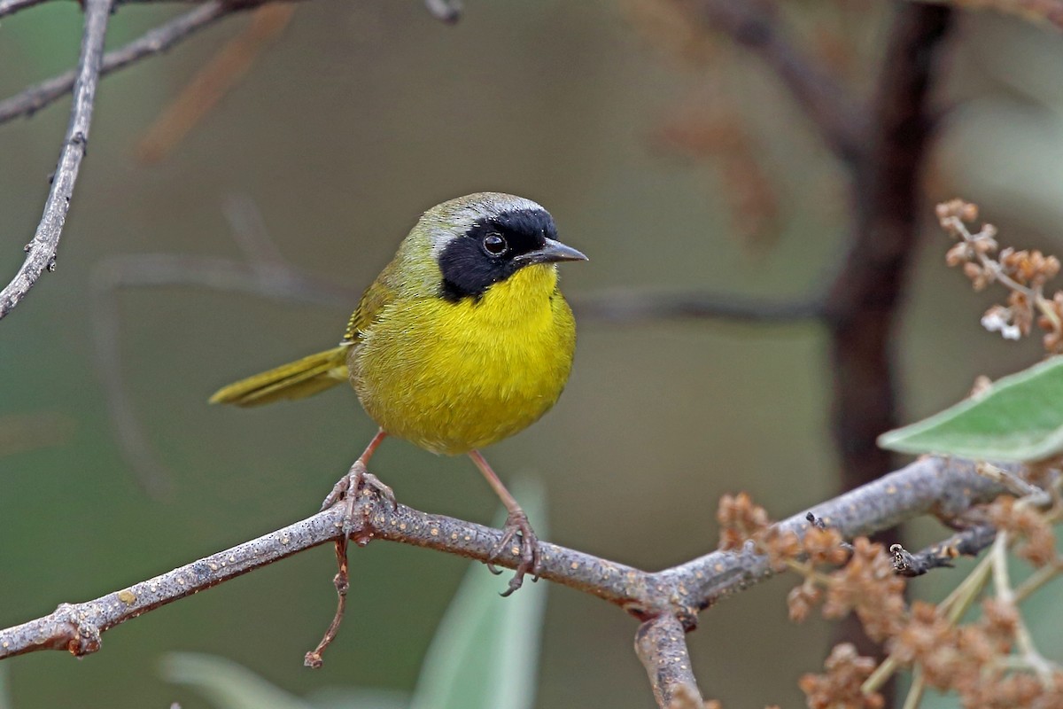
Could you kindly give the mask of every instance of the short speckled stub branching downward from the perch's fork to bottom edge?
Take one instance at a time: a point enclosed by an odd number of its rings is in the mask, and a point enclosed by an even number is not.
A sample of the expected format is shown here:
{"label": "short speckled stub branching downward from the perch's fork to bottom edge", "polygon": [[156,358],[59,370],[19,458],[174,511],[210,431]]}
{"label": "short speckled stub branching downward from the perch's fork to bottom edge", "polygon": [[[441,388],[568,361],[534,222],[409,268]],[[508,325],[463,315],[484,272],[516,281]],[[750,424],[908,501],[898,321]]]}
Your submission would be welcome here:
{"label": "short speckled stub branching downward from the perch's fork to bottom edge", "polygon": [[635,652],[649,675],[654,697],[661,707],[705,706],[694,679],[686,635],[674,615],[651,618],[635,634]]}

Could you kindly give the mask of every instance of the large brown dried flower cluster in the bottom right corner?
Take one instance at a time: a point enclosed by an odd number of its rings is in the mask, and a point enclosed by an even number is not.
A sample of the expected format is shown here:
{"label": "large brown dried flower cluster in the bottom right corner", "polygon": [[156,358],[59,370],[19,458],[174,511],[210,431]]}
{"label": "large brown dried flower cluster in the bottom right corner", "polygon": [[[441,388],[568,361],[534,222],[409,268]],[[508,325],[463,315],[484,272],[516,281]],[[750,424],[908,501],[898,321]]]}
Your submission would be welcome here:
{"label": "large brown dried flower cluster in the bottom right corner", "polygon": [[[972,709],[1063,709],[1063,668],[1036,652],[1018,609],[1023,598],[1063,569],[1051,526],[1060,517],[1059,503],[1044,510],[1030,500],[1006,496],[986,507],[984,517],[999,530],[993,551],[937,605],[916,601],[909,606],[905,579],[880,544],[860,538],[849,546],[812,516],[804,536],[781,534],[743,493],[724,496],[718,518],[722,548],[752,544],[775,568],[804,577],[788,597],[792,620],[803,621],[816,606],[828,619],[856,613],[867,636],[889,653],[877,664],[850,644],[837,645],[823,674],[799,681],[809,707],[881,709],[878,689],[894,672],[907,669],[914,673],[914,694],[906,707],[918,706],[922,692],[931,687],[957,693]],[[1018,589],[1007,578],[1012,542],[1016,555],[1040,570]],[[961,624],[990,580],[996,595],[982,600],[977,621]]]}

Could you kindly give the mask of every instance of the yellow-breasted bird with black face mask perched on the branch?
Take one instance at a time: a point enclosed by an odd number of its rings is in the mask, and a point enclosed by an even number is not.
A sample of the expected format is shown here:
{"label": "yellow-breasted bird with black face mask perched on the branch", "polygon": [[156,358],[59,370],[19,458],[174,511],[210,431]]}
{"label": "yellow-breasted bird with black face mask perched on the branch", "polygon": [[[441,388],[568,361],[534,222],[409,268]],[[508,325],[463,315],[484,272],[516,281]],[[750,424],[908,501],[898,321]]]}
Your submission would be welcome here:
{"label": "yellow-breasted bird with black face mask perched on the branch", "polygon": [[587,256],[558,240],[553,217],[532,200],[477,192],[443,202],[421,215],[365,290],[337,347],[225,386],[209,401],[257,406],[349,382],[378,432],[322,509],[365,487],[394,504],[367,469],[387,436],[468,454],[506,507],[489,562],[519,556],[509,595],[526,574],[538,577],[538,540],[480,449],[526,428],[561,395],[576,326],[557,265],[578,260]]}

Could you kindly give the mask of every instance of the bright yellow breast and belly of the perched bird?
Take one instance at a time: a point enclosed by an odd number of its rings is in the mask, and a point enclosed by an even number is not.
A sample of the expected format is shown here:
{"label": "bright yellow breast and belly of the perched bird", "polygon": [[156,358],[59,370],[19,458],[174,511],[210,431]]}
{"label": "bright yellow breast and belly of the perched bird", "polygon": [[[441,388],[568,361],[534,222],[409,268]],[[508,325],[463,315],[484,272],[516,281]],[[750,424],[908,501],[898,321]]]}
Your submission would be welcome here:
{"label": "bright yellow breast and belly of the perched bird", "polygon": [[557,401],[576,328],[553,265],[521,269],[478,300],[396,298],[348,356],[366,411],[435,453],[502,440]]}

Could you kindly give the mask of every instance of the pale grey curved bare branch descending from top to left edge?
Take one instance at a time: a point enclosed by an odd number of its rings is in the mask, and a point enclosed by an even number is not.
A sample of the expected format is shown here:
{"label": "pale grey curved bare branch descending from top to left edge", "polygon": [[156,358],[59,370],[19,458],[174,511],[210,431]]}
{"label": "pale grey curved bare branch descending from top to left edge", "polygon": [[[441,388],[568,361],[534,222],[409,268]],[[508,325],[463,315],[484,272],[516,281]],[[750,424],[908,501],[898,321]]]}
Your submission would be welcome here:
{"label": "pale grey curved bare branch descending from top to left edge", "polygon": [[58,167],[52,176],[52,187],[45,202],[45,213],[40,217],[33,240],[26,244],[24,251],[28,253],[26,260],[14,280],[0,291],[0,318],[11,313],[30,292],[30,288],[45,269],[55,270],[55,254],[63,233],[63,223],[70,209],[70,198],[78,181],[78,169],[81,167],[81,161],[85,156],[85,146],[88,142],[92,104],[96,101],[96,84],[100,79],[103,39],[109,17],[111,0],[85,0],[85,30],[81,40],[81,56],[78,60],[70,124],[67,126],[63,150],[60,152]]}

